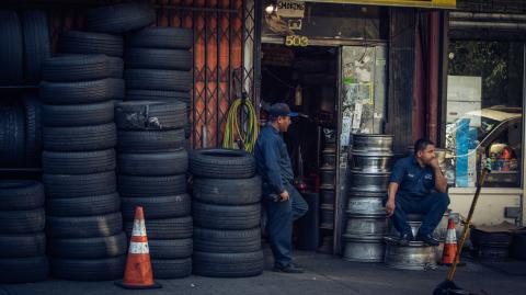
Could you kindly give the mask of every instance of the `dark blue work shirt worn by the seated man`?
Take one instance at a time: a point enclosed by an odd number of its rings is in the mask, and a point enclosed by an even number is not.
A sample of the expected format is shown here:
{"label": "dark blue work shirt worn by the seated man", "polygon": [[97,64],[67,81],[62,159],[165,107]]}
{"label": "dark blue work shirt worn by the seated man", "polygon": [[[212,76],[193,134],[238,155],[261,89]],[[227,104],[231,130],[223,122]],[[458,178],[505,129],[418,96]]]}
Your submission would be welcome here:
{"label": "dark blue work shirt worn by the seated man", "polygon": [[422,168],[414,156],[409,156],[395,163],[389,182],[399,184],[397,195],[425,196],[435,190],[435,173],[433,168]]}

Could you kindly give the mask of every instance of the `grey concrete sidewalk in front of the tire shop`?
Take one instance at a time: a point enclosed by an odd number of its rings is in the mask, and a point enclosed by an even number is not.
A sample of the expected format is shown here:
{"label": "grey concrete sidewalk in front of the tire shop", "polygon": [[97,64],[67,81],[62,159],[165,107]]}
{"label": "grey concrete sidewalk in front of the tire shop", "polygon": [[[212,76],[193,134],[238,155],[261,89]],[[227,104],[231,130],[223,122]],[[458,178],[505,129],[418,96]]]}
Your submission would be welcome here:
{"label": "grey concrete sidewalk in front of the tire shop", "polygon": [[[190,276],[182,280],[159,280],[163,288],[126,291],[113,282],[69,282],[49,280],[35,284],[0,285],[0,295],[238,295],[238,294],[432,294],[444,280],[447,268],[430,271],[401,271],[382,264],[353,263],[339,257],[315,252],[295,252],[296,262],[307,272],[282,274],[270,271],[272,254],[265,249],[266,270],[255,277],[210,279]],[[474,262],[459,268],[455,282],[476,294],[526,294],[526,277],[505,275]]]}

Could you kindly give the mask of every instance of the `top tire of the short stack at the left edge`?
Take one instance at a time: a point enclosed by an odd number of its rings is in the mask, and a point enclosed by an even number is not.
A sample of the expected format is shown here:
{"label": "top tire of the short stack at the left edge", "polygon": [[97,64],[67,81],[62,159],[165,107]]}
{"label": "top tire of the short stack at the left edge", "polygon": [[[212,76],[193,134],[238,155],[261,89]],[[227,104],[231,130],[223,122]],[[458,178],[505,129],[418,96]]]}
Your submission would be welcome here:
{"label": "top tire of the short stack at the left edge", "polygon": [[0,211],[36,209],[44,206],[44,185],[34,180],[0,180]]}

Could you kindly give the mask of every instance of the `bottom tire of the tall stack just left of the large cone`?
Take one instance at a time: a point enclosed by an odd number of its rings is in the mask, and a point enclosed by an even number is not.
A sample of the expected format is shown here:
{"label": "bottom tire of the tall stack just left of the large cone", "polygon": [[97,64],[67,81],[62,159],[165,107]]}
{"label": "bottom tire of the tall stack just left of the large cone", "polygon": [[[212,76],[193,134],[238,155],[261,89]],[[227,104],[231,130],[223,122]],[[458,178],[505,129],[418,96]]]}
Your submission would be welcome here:
{"label": "bottom tire of the tall stack just left of the large cone", "polygon": [[105,259],[50,259],[52,275],[71,281],[112,281],[123,277],[126,257]]}

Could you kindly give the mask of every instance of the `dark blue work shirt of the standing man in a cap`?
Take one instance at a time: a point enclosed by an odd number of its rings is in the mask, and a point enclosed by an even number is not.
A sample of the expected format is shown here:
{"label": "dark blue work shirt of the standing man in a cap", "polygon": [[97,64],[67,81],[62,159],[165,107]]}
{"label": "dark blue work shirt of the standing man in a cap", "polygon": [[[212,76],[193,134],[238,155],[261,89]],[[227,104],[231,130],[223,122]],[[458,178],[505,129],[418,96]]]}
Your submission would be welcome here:
{"label": "dark blue work shirt of the standing man in a cap", "polygon": [[272,192],[263,193],[283,193],[284,185],[294,180],[293,166],[288,157],[287,145],[279,132],[270,123],[258,136],[254,157],[258,174],[263,179],[264,186],[270,186],[272,190]]}

